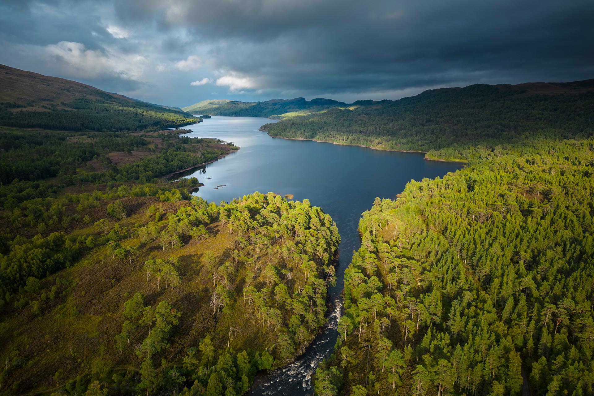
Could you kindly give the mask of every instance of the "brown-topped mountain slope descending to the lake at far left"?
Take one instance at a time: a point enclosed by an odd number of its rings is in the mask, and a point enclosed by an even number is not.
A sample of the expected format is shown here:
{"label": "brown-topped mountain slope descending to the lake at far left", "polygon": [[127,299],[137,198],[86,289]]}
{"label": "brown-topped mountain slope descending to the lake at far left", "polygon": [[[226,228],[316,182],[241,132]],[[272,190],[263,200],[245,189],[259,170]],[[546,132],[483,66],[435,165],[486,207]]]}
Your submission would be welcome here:
{"label": "brown-topped mountain slope descending to the lake at far left", "polygon": [[198,121],[175,107],[0,65],[0,125],[67,131],[155,131]]}

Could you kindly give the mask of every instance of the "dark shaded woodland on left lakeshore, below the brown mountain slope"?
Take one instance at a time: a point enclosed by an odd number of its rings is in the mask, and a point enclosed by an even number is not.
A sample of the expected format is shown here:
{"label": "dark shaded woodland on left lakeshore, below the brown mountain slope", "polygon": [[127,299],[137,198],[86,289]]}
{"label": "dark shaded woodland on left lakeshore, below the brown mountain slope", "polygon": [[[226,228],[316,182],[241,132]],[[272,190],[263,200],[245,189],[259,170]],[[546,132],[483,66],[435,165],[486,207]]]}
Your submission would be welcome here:
{"label": "dark shaded woodland on left lakeshore, below the brown mountain slope", "polygon": [[[1,207],[27,201],[49,207],[62,189],[100,190],[119,183],[156,183],[169,173],[217,159],[238,147],[160,132],[60,132],[0,127]],[[34,199],[46,199],[34,201]],[[23,212],[30,208],[23,207]]]}

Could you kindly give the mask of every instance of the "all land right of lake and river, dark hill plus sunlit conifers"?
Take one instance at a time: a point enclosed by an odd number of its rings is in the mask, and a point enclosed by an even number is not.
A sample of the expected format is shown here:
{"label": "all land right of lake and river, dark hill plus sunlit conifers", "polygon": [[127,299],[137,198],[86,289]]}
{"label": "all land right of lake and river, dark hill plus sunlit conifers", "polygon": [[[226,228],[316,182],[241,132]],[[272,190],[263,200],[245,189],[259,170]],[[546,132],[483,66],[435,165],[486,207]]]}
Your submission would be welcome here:
{"label": "all land right of lake and river, dark hill plus sunlit conifers", "polygon": [[446,88],[264,126],[468,160],[369,202],[315,394],[594,394],[592,83]]}

